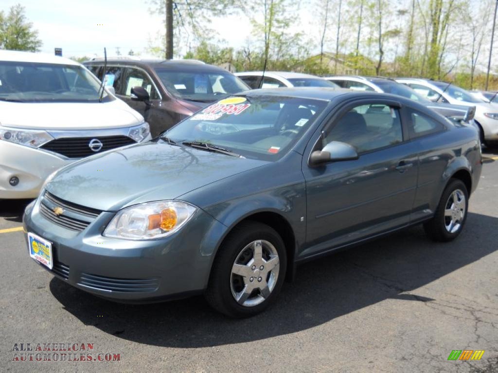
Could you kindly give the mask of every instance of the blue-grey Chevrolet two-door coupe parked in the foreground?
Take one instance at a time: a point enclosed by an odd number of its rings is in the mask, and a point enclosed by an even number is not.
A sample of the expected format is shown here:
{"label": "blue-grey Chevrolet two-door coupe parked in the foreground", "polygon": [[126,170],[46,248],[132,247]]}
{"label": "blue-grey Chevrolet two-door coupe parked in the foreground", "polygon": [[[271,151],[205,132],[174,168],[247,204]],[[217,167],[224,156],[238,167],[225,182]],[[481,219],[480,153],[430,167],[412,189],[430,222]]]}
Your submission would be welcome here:
{"label": "blue-grey Chevrolet two-door coupe parked in the foreground", "polygon": [[255,90],[64,167],[23,221],[29,255],[79,289],[125,302],[204,293],[247,317],[304,260],[419,223],[453,240],[481,169],[476,129],[415,101]]}

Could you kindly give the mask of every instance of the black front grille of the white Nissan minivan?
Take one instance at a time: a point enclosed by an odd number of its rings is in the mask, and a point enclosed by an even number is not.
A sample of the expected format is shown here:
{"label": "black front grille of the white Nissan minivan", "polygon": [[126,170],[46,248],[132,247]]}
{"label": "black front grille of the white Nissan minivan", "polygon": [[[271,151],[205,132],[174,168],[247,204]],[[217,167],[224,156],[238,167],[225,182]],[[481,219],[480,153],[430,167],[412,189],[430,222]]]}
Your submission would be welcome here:
{"label": "black front grille of the white Nissan minivan", "polygon": [[[94,152],[90,149],[90,142],[94,139],[97,139],[102,143],[102,148],[98,152]],[[61,137],[46,143],[41,146],[41,149],[50,150],[68,158],[83,158],[134,143],[135,141],[133,139],[123,135],[100,137]]]}

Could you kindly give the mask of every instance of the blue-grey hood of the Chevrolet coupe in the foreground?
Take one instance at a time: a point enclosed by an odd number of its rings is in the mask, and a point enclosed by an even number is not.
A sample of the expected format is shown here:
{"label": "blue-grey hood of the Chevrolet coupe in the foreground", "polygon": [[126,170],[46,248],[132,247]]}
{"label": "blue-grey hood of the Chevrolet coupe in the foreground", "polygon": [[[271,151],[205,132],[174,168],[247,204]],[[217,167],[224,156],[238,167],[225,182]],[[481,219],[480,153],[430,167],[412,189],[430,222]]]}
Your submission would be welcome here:
{"label": "blue-grey hood of the Chevrolet coupe in the foreground", "polygon": [[266,163],[147,142],[66,166],[46,190],[79,205],[116,211],[136,203],[175,199]]}

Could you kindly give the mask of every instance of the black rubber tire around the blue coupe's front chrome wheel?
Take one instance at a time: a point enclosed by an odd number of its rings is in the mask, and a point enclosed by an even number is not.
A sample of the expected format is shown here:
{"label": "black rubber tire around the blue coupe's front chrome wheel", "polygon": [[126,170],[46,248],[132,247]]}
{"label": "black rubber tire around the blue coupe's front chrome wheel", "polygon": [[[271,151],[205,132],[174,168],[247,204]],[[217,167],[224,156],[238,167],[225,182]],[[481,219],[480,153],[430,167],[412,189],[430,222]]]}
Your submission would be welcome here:
{"label": "black rubber tire around the blue coupe's front chrome wheel", "polygon": [[[258,240],[265,240],[276,249],[279,260],[278,276],[276,276],[275,285],[269,296],[261,303],[252,306],[242,305],[237,302],[232,293],[232,266],[240,258],[242,250]],[[278,233],[266,224],[253,221],[242,222],[229,233],[216,254],[205,292],[206,300],[213,308],[225,315],[235,318],[254,316],[274,301],[284,282],[286,268],[285,246]],[[255,290],[256,295],[258,291]]]}

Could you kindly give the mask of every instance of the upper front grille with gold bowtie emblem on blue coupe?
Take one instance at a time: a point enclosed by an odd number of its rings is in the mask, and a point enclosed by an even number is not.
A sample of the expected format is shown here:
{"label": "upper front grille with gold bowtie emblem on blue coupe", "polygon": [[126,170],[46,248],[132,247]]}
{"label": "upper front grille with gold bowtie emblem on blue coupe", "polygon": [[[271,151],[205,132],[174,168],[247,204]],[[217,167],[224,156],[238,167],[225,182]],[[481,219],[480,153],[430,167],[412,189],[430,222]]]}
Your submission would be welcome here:
{"label": "upper front grille with gold bowtie emblem on blue coupe", "polygon": [[[64,212],[57,215],[53,211],[54,207],[62,207]],[[99,216],[101,211],[59,199],[47,191],[40,203],[40,213],[54,224],[81,232]],[[81,218],[77,218],[74,215]]]}

